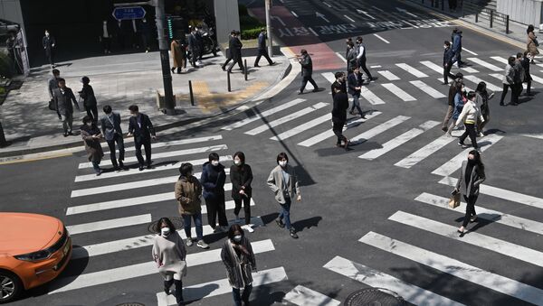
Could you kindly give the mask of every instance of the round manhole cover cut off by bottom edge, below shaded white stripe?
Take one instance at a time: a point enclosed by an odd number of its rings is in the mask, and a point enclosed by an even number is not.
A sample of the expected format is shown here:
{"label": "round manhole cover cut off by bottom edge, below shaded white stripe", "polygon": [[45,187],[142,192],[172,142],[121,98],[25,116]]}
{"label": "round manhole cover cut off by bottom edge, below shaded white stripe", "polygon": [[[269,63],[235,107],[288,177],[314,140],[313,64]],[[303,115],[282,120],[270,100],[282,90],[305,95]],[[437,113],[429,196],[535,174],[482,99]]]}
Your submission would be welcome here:
{"label": "round manhole cover cut off by bottom edge, below shaded white stripe", "polygon": [[345,306],[403,306],[404,299],[395,292],[383,288],[367,288],[352,292]]}

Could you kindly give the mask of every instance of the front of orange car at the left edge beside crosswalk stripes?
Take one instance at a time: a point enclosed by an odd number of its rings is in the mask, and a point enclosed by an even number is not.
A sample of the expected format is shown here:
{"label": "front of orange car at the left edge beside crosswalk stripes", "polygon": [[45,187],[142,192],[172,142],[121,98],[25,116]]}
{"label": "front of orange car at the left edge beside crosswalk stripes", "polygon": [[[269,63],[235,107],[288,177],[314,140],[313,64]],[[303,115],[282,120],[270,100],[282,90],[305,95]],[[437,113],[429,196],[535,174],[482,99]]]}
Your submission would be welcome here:
{"label": "front of orange car at the left edge beside crosswalk stripes", "polygon": [[52,281],[71,258],[71,238],[58,218],[0,212],[0,303]]}

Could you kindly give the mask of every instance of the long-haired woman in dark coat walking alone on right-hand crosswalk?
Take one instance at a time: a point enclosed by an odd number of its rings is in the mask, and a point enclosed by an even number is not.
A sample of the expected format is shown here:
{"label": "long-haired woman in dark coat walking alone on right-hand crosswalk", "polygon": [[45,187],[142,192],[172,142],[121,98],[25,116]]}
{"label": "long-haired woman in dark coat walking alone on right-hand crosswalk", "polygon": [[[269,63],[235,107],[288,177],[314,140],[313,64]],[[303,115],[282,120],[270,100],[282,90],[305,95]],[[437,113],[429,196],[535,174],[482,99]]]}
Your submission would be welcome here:
{"label": "long-haired woman in dark coat walking alone on right-hand crosswalk", "polygon": [[466,215],[463,218],[462,227],[457,230],[461,236],[465,234],[468,223],[477,220],[475,202],[477,201],[477,197],[479,197],[479,187],[484,180],[486,180],[486,175],[484,173],[484,164],[481,161],[481,153],[477,150],[472,150],[468,153],[468,160],[462,162],[462,171],[453,191],[462,191],[463,198],[467,203]]}

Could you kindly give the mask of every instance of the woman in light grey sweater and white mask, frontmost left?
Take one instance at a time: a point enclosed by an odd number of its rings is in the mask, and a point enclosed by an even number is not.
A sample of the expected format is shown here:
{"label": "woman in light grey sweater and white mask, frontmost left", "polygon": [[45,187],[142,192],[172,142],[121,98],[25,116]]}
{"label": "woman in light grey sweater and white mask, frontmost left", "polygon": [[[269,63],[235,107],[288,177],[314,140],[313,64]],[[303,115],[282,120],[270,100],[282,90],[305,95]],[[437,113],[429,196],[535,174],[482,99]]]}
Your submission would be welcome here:
{"label": "woman in light grey sweater and white mask, frontmost left", "polygon": [[164,292],[176,284],[176,302],[183,305],[183,276],[186,276],[186,248],[169,218],[160,218],[155,226],[152,256],[158,272],[164,277]]}

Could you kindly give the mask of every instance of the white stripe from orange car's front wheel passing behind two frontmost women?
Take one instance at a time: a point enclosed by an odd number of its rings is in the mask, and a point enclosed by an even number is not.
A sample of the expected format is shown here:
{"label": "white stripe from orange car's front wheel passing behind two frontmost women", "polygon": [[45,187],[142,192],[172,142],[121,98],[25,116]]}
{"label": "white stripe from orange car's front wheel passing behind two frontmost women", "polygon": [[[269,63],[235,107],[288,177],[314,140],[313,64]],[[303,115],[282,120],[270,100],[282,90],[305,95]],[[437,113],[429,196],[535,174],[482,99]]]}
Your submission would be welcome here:
{"label": "white stripe from orange car's front wheel passing behind two frontmost women", "polygon": [[[155,235],[149,235],[151,237],[151,245]],[[275,250],[273,243],[270,239],[252,242],[252,251],[255,254],[271,252]],[[194,246],[195,247],[195,246]],[[150,255],[150,251],[149,251]],[[189,266],[211,264],[221,260],[221,249],[215,249],[211,251],[199,252],[195,254],[186,255],[186,263]],[[71,290],[88,288],[91,286],[97,286],[104,283],[119,282],[122,280],[128,280],[131,278],[145,276],[150,274],[157,274],[157,264],[149,260],[143,264],[131,264],[122,266],[119,268],[113,268],[109,270],[102,270],[89,274],[81,274],[78,276],[68,276],[57,279],[50,284],[50,292],[48,294],[67,292]],[[230,287],[232,290],[232,287]]]}

